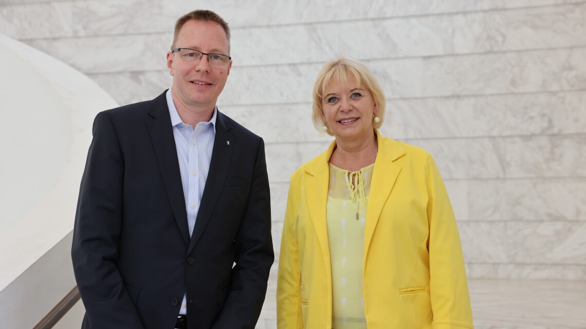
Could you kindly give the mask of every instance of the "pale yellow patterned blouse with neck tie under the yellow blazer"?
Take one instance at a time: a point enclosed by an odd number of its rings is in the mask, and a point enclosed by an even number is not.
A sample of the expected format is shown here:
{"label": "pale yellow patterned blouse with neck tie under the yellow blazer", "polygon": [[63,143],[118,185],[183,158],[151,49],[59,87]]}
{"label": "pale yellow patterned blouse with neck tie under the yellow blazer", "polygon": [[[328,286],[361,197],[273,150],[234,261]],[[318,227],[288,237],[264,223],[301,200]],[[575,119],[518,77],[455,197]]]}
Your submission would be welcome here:
{"label": "pale yellow patterned blouse with neck tie under the yellow blazer", "polygon": [[349,172],[329,164],[326,219],[332,261],[332,329],[366,329],[362,252],[374,164]]}

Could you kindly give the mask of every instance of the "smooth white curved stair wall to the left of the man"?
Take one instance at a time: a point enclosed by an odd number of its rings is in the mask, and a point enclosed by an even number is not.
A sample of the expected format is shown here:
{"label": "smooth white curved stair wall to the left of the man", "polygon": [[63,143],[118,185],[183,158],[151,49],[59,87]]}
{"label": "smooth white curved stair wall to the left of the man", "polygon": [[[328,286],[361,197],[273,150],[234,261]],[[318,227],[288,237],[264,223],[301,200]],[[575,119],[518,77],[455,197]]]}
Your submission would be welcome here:
{"label": "smooth white curved stair wall to the left of the man", "polygon": [[84,74],[5,35],[0,71],[0,325],[30,328],[75,285],[70,232],[91,126],[117,104]]}

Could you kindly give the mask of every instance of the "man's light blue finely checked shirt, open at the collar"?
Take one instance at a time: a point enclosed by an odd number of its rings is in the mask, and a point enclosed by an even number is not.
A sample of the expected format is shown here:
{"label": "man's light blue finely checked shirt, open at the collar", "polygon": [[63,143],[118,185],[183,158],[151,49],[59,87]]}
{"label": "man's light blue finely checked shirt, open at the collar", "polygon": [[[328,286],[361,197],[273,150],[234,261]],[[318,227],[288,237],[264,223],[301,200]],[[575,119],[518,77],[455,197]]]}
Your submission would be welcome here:
{"label": "man's light blue finely checked shirt, open at the collar", "polygon": [[[191,237],[197,211],[199,211],[199,205],[202,202],[207,173],[210,170],[214,138],[216,138],[217,108],[214,108],[214,114],[209,122],[199,122],[194,129],[193,126],[183,123],[180,118],[177,108],[175,108],[175,102],[173,102],[171,88],[167,91],[166,97],[173,126],[173,136],[175,137],[189,236]],[[186,314],[186,311],[187,296],[184,295],[179,314]]]}

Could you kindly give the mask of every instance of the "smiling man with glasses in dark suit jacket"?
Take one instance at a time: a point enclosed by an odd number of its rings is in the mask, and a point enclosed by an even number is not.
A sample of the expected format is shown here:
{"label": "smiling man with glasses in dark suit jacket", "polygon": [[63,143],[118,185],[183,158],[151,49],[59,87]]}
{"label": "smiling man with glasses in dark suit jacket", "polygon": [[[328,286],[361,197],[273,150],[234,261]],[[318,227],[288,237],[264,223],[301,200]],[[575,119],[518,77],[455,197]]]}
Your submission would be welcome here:
{"label": "smiling man with glasses in dark suit jacket", "polygon": [[83,328],[254,328],[274,254],[263,140],[216,107],[230,30],[175,26],[171,90],[101,112],[71,256]]}

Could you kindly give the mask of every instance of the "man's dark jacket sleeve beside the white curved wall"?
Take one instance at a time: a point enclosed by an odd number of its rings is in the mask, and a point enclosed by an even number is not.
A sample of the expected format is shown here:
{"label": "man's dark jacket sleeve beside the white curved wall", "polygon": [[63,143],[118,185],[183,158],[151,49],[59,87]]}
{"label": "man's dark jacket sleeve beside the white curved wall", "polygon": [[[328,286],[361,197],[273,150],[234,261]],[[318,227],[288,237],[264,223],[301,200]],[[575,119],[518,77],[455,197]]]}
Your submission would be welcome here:
{"label": "man's dark jacket sleeve beside the white curved wall", "polygon": [[71,259],[93,329],[143,328],[116,262],[124,160],[111,119],[96,116],[77,201]]}

